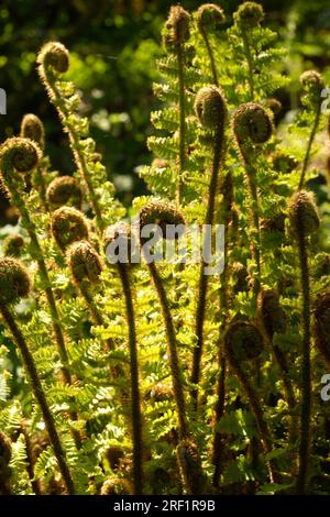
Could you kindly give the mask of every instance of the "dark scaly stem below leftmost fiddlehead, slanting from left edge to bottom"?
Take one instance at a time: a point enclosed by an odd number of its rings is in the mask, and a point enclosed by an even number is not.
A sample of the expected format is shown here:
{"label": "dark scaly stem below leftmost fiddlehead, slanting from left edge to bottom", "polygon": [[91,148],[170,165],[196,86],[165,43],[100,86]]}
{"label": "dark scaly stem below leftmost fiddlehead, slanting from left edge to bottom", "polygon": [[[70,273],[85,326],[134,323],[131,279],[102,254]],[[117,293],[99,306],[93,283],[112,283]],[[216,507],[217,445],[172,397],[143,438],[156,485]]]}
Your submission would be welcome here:
{"label": "dark scaly stem below leftmost fiddlehead, slanting from left edge to bottom", "polygon": [[41,411],[45,421],[45,426],[50,436],[50,440],[52,443],[52,448],[56,457],[58,469],[62,474],[63,481],[65,483],[66,490],[69,495],[74,495],[75,494],[74,481],[73,481],[70,471],[66,462],[65,452],[62,447],[62,443],[61,443],[61,440],[56,430],[55,421],[54,421],[52,411],[50,409],[48,403],[46,400],[46,397],[45,397],[45,394],[44,394],[44,391],[43,391],[43,387],[38,377],[38,373],[34,364],[33,356],[30,353],[30,350],[25,343],[25,339],[21,330],[16,326],[15,320],[13,319],[10,310],[4,305],[1,304],[0,311],[1,311],[4,322],[7,323],[7,326],[9,327],[13,336],[14,342],[20,349],[24,367],[30,377],[31,387],[35,396],[35,399],[41,408]]}

